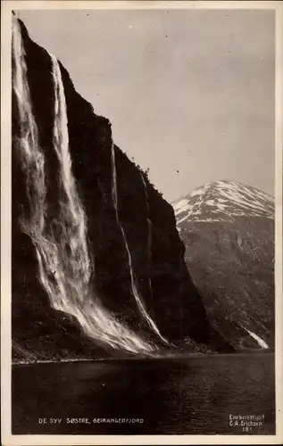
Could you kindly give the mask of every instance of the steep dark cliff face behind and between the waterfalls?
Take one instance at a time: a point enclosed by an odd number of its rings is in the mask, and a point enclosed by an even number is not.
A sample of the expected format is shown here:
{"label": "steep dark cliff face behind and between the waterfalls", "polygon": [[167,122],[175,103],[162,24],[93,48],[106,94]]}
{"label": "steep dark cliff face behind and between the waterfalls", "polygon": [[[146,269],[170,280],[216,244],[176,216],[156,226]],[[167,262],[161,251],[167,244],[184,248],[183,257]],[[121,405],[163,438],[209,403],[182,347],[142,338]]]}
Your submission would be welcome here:
{"label": "steep dark cliff face behind and between the waterfalls", "polygon": [[[29,38],[23,23],[17,23],[27,67],[30,105],[38,129],[38,145],[45,160],[45,230],[58,227],[62,231],[60,219],[63,214],[59,209],[62,193],[58,186],[62,182],[62,170],[54,151],[54,120],[57,118],[53,62],[50,54]],[[16,64],[13,55],[13,72]],[[212,349],[229,347],[210,326],[201,297],[187,272],[183,258],[185,248],[179,239],[171,205],[162,199],[146,174],[137,169],[119,147],[112,145],[109,120],[95,113],[92,105],[76,92],[67,70],[61,63],[59,66],[66,102],[71,171],[86,215],[87,246],[94,265],[89,279],[94,301],[98,299],[121,326],[129,327],[148,343],[168,347],[189,337]],[[53,308],[40,280],[35,243],[22,230],[22,216],[30,218],[32,196],[27,196],[29,174],[28,169],[23,169],[19,151],[22,132],[26,131],[29,136],[30,129],[28,121],[21,122],[19,92],[16,90],[14,87],[12,91],[14,358],[104,356],[109,351],[112,353],[112,345],[104,339],[100,342],[97,337],[94,341],[79,325],[78,318]],[[113,202],[113,174],[119,219]],[[36,192],[35,189],[32,194]],[[63,228],[68,229],[66,225]],[[60,246],[63,236],[60,231],[56,235]],[[64,268],[68,270],[68,265]],[[59,273],[55,270],[52,274],[55,277]],[[144,303],[139,308],[133,295],[133,281]],[[94,302],[89,305],[91,308]],[[143,317],[145,309],[147,319],[154,321],[152,326]],[[154,332],[153,325],[162,336],[157,330]]]}

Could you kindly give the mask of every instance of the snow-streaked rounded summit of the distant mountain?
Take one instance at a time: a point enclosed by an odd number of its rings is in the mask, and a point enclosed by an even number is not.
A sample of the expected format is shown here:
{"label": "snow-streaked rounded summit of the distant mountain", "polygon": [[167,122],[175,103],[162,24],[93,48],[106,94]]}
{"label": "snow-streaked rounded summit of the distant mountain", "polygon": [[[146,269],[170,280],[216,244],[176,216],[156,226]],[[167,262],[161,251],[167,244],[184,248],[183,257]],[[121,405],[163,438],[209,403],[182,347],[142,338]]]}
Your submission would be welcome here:
{"label": "snow-streaked rounded summit of the distant mountain", "polygon": [[177,224],[191,221],[233,221],[235,217],[274,218],[274,200],[252,186],[216,181],[172,203]]}

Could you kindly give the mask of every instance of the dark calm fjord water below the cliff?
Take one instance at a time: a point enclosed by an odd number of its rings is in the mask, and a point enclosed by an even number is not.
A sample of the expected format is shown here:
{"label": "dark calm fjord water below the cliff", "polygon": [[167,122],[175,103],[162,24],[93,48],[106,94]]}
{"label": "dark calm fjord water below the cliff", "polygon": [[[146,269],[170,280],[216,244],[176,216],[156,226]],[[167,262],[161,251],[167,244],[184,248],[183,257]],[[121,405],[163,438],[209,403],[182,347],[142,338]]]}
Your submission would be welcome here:
{"label": "dark calm fjord water below the cliff", "polygon": [[[275,434],[274,381],[261,352],[13,366],[12,433]],[[230,415],[264,420],[244,432]]]}

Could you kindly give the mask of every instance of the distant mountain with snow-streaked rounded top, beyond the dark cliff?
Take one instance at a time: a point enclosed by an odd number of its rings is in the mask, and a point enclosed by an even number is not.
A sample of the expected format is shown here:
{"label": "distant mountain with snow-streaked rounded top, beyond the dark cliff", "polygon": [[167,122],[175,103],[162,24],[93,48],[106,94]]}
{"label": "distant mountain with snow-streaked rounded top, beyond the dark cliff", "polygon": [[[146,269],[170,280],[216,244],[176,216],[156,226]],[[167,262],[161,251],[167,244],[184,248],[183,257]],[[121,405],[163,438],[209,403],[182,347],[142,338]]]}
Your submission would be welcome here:
{"label": "distant mountain with snow-streaked rounded top, beyond the dark cliff", "polygon": [[274,346],[274,201],[217,181],[173,203],[208,317],[235,348]]}

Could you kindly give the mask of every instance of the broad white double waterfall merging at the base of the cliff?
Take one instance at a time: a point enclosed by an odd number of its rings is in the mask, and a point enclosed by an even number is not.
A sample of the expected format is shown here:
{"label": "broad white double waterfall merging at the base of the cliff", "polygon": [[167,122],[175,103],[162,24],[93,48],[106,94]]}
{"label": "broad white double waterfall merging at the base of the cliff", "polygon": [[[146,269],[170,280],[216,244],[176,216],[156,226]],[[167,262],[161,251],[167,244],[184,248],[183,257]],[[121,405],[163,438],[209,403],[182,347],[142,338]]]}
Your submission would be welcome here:
{"label": "broad white double waterfall merging at the base of the cliff", "polygon": [[[104,308],[91,286],[93,265],[87,248],[87,219],[71,171],[68,120],[62,75],[51,56],[54,81],[54,134],[59,175],[58,216],[46,225],[46,160],[39,145],[37,123],[32,112],[27,66],[19,21],[13,18],[12,86],[17,98],[20,137],[17,150],[27,181],[29,216],[21,218],[21,229],[34,244],[39,279],[55,310],[72,315],[84,333],[115,349],[153,354],[154,346],[122,325]],[[18,154],[17,153],[17,154]]]}

